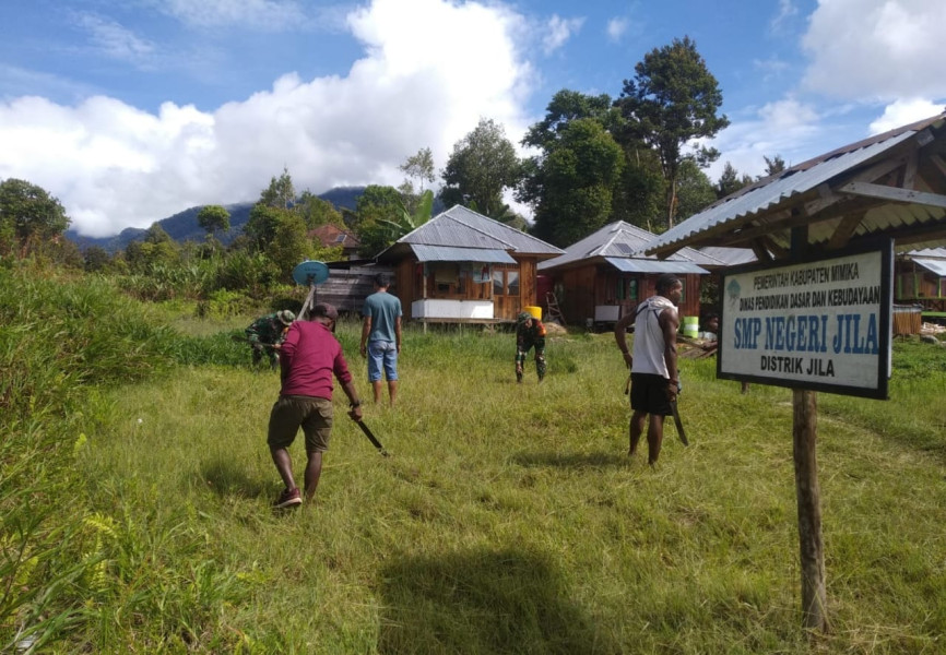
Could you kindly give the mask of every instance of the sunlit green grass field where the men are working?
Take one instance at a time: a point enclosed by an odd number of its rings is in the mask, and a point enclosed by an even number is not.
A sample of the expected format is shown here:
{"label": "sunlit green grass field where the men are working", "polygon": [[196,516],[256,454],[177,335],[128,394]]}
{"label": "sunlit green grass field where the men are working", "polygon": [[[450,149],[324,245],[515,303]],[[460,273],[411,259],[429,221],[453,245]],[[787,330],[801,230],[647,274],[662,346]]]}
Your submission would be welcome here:
{"label": "sunlit green grass field where the men are working", "polygon": [[651,468],[610,335],[556,336],[517,385],[510,334],[409,331],[399,405],[365,410],[392,456],[339,393],[317,502],[274,513],[277,377],[235,324],[178,322],[191,364],[88,388],[57,497],[84,565],[8,639],[32,617],[50,653],[946,652],[944,348],[898,342],[889,402],[819,394],[832,629],[807,634],[791,391],[683,360],[690,445],[669,425]]}

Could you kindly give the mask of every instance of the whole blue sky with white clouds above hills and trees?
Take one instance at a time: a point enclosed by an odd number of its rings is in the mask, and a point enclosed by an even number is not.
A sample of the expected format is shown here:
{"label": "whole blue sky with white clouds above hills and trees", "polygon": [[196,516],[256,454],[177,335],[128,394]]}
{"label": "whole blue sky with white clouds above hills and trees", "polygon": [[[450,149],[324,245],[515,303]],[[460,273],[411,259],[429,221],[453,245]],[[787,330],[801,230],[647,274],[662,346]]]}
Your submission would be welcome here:
{"label": "whole blue sky with white clouds above hills and trees", "polygon": [[689,36],[732,121],[712,145],[758,175],[946,105],[942,0],[9,0],[0,179],[91,236],[200,204],[439,171],[483,118],[518,142],[561,88],[617,97]]}

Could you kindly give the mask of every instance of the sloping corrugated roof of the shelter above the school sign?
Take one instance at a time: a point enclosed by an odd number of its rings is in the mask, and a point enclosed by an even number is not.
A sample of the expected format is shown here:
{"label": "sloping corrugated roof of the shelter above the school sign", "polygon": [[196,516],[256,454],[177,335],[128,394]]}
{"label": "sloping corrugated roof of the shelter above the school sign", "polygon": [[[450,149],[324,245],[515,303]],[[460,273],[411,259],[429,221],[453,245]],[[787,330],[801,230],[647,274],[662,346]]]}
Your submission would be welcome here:
{"label": "sloping corrugated roof of the shelter above the school sign", "polygon": [[[750,184],[669,229],[650,245],[648,252],[666,254],[683,246],[731,246],[740,243],[741,231],[749,234],[747,230],[756,235],[764,234],[776,247],[788,248],[793,225],[807,225],[809,243],[827,243],[848,213],[855,215],[865,210],[852,235],[854,240],[878,235],[904,236],[910,228],[944,223],[946,209],[939,206],[879,200],[870,204],[860,201],[859,204],[854,201],[854,195],[848,196],[842,190],[829,189],[832,182],[835,186],[847,183],[854,174],[865,171],[886,158],[903,157],[906,163],[906,157],[915,148],[922,147],[927,156],[942,157],[942,154],[935,153],[937,150],[942,153],[943,142],[946,142],[944,120],[946,114],[904,126],[815,157]],[[931,141],[938,141],[939,145],[929,146]],[[938,164],[936,166],[938,167]],[[942,172],[927,177],[931,181],[942,182],[943,179]],[[839,211],[833,212],[830,217],[820,218],[815,215],[804,223],[803,205],[808,202],[817,203],[828,192],[833,192],[836,196],[844,195],[842,202],[849,202],[852,209],[841,211],[844,205],[839,204]],[[943,193],[943,189],[938,192]],[[812,211],[816,210],[817,207],[812,205]],[[745,234],[742,237],[745,238]],[[931,238],[941,237],[934,235]]]}

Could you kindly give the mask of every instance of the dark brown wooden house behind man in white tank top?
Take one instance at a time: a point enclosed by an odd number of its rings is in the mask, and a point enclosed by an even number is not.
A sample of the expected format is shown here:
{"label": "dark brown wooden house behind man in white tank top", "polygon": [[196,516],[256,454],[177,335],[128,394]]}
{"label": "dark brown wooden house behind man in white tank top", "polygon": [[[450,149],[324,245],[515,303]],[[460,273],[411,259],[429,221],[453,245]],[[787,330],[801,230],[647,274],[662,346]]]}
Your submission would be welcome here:
{"label": "dark brown wooden house behind man in white tank top", "polygon": [[657,235],[617,221],[565,249],[565,254],[539,264],[551,278],[561,314],[569,323],[589,326],[616,323],[654,294],[657,278],[673,273],[683,282],[682,315],[699,315],[700,276],[707,266],[722,266],[711,255],[684,248],[658,260],[645,249]]}

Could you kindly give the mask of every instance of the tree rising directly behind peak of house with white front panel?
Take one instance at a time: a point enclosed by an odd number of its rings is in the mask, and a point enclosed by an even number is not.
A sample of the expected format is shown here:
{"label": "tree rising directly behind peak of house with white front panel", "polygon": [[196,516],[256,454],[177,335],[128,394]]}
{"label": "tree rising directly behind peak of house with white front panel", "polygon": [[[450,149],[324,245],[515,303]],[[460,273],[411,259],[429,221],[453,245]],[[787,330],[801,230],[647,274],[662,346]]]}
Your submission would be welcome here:
{"label": "tree rising directly behind peak of house with white front panel", "polygon": [[440,199],[448,207],[475,204],[481,214],[499,218],[509,213],[502,192],[516,187],[521,165],[502,127],[492,119],[481,119],[453,145],[441,175]]}

